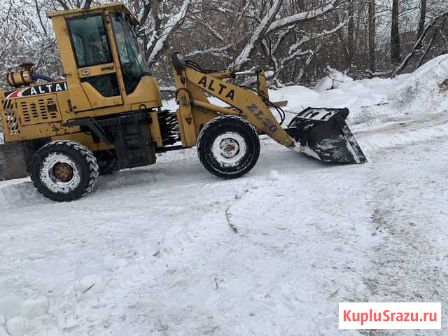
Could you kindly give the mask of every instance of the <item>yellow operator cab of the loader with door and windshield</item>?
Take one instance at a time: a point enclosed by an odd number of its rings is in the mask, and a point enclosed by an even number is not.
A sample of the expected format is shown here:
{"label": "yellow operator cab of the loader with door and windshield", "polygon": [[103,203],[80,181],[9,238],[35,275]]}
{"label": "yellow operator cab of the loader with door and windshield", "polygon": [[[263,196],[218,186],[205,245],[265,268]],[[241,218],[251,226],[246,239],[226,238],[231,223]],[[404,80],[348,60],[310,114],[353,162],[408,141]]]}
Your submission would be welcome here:
{"label": "yellow operator cab of the loader with door and windshield", "polygon": [[154,109],[160,91],[137,39],[139,22],[121,3],[50,14],[73,113]]}

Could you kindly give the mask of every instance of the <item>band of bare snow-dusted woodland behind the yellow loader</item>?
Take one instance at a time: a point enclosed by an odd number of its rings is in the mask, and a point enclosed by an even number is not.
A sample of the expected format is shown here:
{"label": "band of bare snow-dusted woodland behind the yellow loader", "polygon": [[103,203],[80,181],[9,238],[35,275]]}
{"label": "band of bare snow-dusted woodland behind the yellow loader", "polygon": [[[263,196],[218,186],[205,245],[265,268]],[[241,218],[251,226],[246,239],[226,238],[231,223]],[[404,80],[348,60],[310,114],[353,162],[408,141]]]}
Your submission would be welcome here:
{"label": "band of bare snow-dusted woodland behind the yellow loader", "polygon": [[[0,76],[23,61],[55,74],[59,55],[46,15],[109,1],[0,0]],[[391,76],[448,52],[446,21],[431,20],[448,11],[446,0],[124,1],[141,22],[146,62],[167,87],[174,51],[204,69],[264,67],[276,86],[313,83],[328,66],[354,78],[365,69]]]}

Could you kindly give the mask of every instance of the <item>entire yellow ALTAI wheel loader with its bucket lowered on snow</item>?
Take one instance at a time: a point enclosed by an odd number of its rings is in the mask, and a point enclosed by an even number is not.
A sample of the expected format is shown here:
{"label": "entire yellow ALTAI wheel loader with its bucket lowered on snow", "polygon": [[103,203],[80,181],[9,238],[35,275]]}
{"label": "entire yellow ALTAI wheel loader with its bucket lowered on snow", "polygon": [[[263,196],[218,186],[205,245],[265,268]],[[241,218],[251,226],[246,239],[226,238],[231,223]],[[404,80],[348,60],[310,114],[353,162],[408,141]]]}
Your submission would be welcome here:
{"label": "entire yellow ALTAI wheel loader with its bucket lowered on snow", "polygon": [[[175,53],[179,109],[163,110],[137,40],[139,22],[122,3],[49,18],[64,80],[35,73],[33,64],[8,73],[15,89],[0,92],[0,162],[3,175],[29,174],[51,200],[76,200],[99,174],[151,165],[156,153],[193,146],[211,174],[235,178],[257,162],[260,134],[324,162],[366,162],[345,123],[347,109],[309,108],[283,129],[284,113],[269,101],[261,70],[253,73],[254,92],[232,84],[240,73],[207,71]],[[271,109],[281,113],[280,123]]]}

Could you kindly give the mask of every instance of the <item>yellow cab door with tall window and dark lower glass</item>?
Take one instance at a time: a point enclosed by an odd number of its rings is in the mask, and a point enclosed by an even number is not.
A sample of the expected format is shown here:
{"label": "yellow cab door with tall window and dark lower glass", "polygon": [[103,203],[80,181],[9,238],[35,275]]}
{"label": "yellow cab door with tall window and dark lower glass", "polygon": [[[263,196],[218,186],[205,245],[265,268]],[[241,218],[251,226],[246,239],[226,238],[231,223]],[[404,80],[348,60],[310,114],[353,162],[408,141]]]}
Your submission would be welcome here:
{"label": "yellow cab door with tall window and dark lower glass", "polygon": [[104,14],[68,18],[66,25],[76,62],[67,78],[73,111],[123,105]]}

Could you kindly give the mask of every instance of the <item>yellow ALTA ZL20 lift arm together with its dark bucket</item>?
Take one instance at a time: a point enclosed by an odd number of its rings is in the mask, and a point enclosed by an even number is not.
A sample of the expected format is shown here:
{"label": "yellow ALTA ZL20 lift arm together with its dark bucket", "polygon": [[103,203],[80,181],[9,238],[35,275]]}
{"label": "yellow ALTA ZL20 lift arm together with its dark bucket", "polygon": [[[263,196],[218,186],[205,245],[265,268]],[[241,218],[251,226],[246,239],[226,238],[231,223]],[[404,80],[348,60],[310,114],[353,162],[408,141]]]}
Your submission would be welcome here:
{"label": "yellow ALTA ZL20 lift arm together with its dark bucket", "polygon": [[[309,107],[304,111],[297,111],[295,118],[283,129],[269,111],[269,107],[277,106],[269,102],[264,71],[255,71],[258,90],[253,92],[246,87],[225,82],[225,78],[235,78],[232,71],[204,71],[194,62],[184,62],[178,53],[172,55],[172,61],[176,97],[179,100],[179,127],[184,146],[195,146],[201,127],[198,129],[195,125],[194,117],[200,114],[197,111],[197,107],[200,107],[206,111],[214,111],[218,116],[239,116],[253,125],[258,134],[267,134],[279,144],[323,162],[367,162],[345,123],[349,116],[348,109]],[[210,104],[204,92],[232,108]]]}

